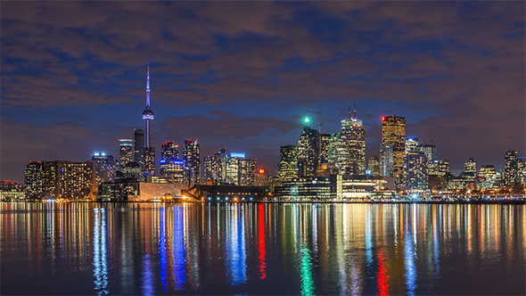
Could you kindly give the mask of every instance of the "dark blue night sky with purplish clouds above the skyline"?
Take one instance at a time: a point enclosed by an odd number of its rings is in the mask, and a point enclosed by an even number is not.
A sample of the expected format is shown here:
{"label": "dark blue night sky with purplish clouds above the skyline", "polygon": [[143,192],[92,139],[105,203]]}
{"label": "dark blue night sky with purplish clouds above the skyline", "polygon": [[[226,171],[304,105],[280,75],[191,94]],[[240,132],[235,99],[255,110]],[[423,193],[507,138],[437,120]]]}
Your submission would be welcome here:
{"label": "dark blue night sky with purplish clouds above the skyline", "polygon": [[[271,173],[309,110],[340,131],[349,103],[379,154],[381,117],[464,160],[504,167],[526,151],[525,3],[1,3],[1,179],[29,160],[119,155],[144,128],[146,63],[152,144],[204,155],[226,148]],[[317,128],[316,119],[311,120]]]}

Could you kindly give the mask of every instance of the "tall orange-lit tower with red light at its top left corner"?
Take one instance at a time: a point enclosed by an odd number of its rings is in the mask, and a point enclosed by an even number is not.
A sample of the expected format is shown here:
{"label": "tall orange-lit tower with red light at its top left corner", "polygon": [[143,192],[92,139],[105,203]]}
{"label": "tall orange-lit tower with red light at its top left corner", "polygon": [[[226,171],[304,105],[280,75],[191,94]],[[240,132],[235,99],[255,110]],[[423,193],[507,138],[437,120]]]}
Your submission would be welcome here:
{"label": "tall orange-lit tower with red light at its top left corner", "polygon": [[404,152],[406,150],[406,118],[382,117],[382,144],[392,144],[392,177],[397,189],[403,187]]}

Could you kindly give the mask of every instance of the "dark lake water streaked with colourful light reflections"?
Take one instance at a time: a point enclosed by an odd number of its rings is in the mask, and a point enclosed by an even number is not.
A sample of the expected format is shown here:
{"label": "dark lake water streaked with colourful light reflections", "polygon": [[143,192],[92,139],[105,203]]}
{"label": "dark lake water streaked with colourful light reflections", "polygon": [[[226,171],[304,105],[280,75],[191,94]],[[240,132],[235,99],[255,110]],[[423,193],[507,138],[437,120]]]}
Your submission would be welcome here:
{"label": "dark lake water streaked with colourful light reflections", "polygon": [[526,206],[0,203],[1,294],[526,294]]}

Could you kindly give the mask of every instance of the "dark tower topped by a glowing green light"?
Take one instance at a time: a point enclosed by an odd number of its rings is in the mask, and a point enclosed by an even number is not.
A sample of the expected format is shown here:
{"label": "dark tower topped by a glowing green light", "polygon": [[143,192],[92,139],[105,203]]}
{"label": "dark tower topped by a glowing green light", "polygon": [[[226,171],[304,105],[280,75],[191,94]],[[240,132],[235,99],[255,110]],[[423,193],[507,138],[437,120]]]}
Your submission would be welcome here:
{"label": "dark tower topped by a glowing green light", "polygon": [[[308,119],[305,120],[308,123]],[[319,161],[319,133],[307,125],[298,141],[298,167],[300,177],[315,177]]]}

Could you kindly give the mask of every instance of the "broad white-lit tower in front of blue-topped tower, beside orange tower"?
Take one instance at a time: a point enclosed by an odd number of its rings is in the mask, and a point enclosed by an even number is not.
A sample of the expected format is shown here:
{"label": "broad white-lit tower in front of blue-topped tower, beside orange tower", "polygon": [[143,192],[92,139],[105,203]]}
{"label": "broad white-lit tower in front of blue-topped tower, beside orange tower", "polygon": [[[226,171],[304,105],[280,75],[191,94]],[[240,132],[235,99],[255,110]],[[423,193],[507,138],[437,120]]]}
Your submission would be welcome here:
{"label": "broad white-lit tower in front of blue-topped tower, beside orange tower", "polygon": [[423,152],[409,151],[404,156],[404,177],[406,189],[423,191],[427,189],[427,158]]}

